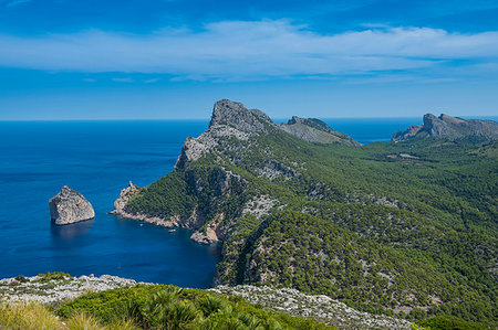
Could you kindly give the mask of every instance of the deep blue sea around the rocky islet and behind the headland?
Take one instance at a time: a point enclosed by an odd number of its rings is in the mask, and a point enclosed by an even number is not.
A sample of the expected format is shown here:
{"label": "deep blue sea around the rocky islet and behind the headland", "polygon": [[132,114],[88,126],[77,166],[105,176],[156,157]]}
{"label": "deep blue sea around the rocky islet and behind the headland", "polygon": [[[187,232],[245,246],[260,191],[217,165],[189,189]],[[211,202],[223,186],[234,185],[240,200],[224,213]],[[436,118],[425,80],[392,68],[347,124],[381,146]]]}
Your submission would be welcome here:
{"label": "deep blue sea around the rocky islet and behind the headland", "polygon": [[[362,143],[388,141],[421,118],[324,119]],[[219,245],[191,232],[108,214],[128,181],[147,185],[173,170],[181,145],[208,120],[0,121],[0,278],[64,272],[207,288]],[[56,226],[49,200],[81,192],[95,219]]]}

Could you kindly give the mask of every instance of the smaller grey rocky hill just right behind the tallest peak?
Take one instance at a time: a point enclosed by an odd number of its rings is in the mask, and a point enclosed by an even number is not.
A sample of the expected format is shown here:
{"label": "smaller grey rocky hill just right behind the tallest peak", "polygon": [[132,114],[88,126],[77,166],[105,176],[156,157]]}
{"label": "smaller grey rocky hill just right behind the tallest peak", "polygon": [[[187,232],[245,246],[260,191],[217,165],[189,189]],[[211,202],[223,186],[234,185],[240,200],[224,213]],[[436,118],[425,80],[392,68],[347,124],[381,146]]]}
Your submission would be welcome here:
{"label": "smaller grey rocky hill just right behind the tallest peak", "polygon": [[315,118],[299,118],[293,116],[287,124],[282,124],[280,129],[312,143],[361,146],[360,142],[353,140],[351,137],[333,130],[325,123]]}

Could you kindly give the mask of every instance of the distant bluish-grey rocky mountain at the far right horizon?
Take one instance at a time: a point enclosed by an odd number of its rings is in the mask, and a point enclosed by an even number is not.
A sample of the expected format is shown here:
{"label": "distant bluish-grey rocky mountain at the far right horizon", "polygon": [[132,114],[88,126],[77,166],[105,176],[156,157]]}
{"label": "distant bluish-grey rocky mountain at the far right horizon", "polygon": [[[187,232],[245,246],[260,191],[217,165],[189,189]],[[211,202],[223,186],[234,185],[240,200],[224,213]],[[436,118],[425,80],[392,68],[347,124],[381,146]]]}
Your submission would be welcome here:
{"label": "distant bluish-grey rocky mountain at the far right horizon", "polygon": [[404,131],[393,135],[393,141],[412,138],[445,138],[456,140],[466,137],[480,137],[489,140],[498,139],[498,123],[492,120],[465,120],[448,115],[436,117],[432,114],[424,116],[424,125],[414,125]]}

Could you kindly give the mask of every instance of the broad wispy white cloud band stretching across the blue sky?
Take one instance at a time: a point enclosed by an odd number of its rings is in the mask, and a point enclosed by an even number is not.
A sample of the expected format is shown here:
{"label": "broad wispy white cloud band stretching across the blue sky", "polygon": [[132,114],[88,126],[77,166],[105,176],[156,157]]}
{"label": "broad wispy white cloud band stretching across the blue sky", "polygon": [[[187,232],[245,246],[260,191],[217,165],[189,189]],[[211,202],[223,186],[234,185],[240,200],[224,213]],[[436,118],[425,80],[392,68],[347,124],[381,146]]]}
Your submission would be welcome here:
{"label": "broad wispy white cloud band stretching across the blue sky", "polygon": [[95,30],[39,38],[0,35],[2,66],[163,73],[178,79],[243,81],[424,70],[444,75],[447,68],[497,60],[498,32],[458,34],[428,28],[372,26],[322,35],[286,20],[225,21],[207,24],[201,31],[164,29],[149,35]]}

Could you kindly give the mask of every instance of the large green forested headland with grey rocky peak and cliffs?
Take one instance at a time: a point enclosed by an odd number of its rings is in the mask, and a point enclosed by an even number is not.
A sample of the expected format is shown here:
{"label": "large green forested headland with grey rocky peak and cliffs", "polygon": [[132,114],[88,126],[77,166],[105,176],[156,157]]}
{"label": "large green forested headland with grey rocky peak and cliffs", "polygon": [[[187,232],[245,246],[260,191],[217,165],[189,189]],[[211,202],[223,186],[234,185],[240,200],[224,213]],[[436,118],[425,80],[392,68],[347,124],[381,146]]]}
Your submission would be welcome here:
{"label": "large green forested headland with grey rocky peak and cliffs", "polygon": [[[461,120],[427,117],[424,129],[461,134]],[[318,119],[278,125],[224,99],[209,128],[187,138],[174,171],[131,184],[115,213],[222,243],[216,284],[497,326],[497,166],[489,140],[359,146]]]}

